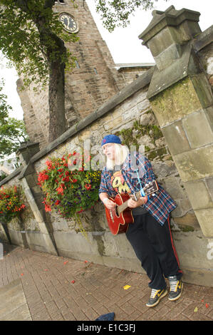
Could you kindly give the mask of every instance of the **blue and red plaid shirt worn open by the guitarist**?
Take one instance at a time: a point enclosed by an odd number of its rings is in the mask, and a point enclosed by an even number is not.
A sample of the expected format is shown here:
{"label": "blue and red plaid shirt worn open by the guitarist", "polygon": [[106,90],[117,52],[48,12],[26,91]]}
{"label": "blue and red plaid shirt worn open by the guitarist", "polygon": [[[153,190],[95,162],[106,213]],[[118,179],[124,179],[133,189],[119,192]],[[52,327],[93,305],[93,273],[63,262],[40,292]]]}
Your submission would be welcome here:
{"label": "blue and red plaid shirt worn open by the guitarist", "polygon": [[[145,187],[147,182],[152,182],[155,180],[155,174],[152,170],[152,165],[150,160],[147,160],[145,156],[140,155],[139,153],[134,153],[135,162],[137,165],[138,175],[140,176],[140,182],[138,180],[135,169],[132,169],[131,166],[131,156],[129,155],[123,167],[121,173],[128,187],[130,187],[131,193],[137,192],[140,190],[140,183],[142,187]],[[102,192],[108,193],[110,197],[115,197],[118,193],[115,192],[112,186],[111,177],[113,176],[113,170],[108,170],[108,168],[103,168],[100,181],[99,194]],[[150,212],[150,214],[155,217],[155,220],[164,225],[167,217],[169,217],[170,212],[175,210],[177,205],[175,201],[172,200],[172,197],[160,186],[158,185],[159,190],[155,193],[155,196],[150,195],[149,200],[144,205],[145,209]]]}

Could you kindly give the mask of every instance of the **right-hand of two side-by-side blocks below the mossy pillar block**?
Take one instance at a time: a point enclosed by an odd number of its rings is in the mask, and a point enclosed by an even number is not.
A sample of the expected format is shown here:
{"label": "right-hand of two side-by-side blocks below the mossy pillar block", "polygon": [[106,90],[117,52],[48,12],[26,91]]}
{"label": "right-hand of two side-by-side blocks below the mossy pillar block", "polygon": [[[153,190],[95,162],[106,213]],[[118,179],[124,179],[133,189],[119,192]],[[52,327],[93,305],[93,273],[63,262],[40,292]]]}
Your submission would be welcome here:
{"label": "right-hand of two side-by-side blocks below the mossy pillar block", "polygon": [[182,120],[182,125],[192,149],[213,143],[212,128],[203,110],[187,115]]}

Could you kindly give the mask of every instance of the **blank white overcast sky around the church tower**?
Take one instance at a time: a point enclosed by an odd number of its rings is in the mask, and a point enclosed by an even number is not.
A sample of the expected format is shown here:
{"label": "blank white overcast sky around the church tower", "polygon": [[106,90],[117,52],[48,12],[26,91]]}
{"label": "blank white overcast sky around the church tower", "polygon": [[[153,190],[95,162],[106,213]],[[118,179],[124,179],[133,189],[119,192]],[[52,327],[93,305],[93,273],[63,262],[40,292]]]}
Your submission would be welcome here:
{"label": "blank white overcast sky around the church tower", "polygon": [[[116,28],[113,33],[109,33],[102,25],[100,16],[95,12],[94,0],[86,0],[93,15],[98,30],[107,43],[115,63],[154,63],[149,49],[142,46],[142,41],[138,36],[144,31],[152,20],[152,10],[137,10],[134,16],[131,16],[130,25],[127,28]],[[155,1],[154,9],[165,11],[169,6],[175,6],[175,9],[187,8],[193,11],[199,11],[199,26],[202,31],[212,26],[212,0],[158,0]],[[2,63],[2,61],[1,61]],[[16,92],[16,81],[18,79],[14,68],[0,67],[0,78],[4,78],[4,94],[8,96],[7,102],[13,110],[11,116],[22,119],[23,110],[21,102]]]}

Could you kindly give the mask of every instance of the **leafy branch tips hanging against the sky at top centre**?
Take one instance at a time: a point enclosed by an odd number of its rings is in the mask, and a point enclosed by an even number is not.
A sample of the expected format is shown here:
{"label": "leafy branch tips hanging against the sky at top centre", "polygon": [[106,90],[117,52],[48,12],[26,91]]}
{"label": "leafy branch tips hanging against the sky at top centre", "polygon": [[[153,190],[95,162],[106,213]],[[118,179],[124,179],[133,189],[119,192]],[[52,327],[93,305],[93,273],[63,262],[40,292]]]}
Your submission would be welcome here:
{"label": "leafy branch tips hanging against the sky at top centre", "polygon": [[154,1],[157,0],[95,0],[95,3],[103,26],[112,32],[116,26],[127,26],[136,9],[152,9]]}

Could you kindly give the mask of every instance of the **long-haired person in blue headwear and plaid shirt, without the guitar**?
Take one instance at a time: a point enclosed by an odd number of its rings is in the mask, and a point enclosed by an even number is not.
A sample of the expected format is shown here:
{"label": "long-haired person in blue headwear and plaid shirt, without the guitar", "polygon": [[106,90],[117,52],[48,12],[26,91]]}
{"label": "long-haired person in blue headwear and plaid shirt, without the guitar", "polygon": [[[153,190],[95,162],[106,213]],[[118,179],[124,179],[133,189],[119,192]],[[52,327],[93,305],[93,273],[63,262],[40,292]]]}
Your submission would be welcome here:
{"label": "long-haired person in blue headwear and plaid shirt, without the guitar", "polygon": [[[165,278],[170,282],[168,299],[179,299],[183,287],[182,270],[170,230],[170,212],[177,207],[175,201],[160,185],[155,195],[133,200],[135,192],[155,180],[150,161],[137,152],[131,155],[116,135],[106,135],[101,146],[106,166],[101,175],[99,197],[108,210],[115,210],[116,204],[109,197],[130,195],[127,204],[134,222],[128,225],[125,234],[150,278],[152,290],[146,306],[156,306],[168,293]],[[131,157],[135,158],[136,169],[132,168]]]}

